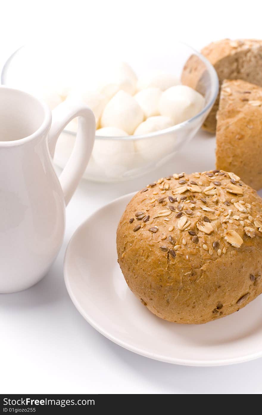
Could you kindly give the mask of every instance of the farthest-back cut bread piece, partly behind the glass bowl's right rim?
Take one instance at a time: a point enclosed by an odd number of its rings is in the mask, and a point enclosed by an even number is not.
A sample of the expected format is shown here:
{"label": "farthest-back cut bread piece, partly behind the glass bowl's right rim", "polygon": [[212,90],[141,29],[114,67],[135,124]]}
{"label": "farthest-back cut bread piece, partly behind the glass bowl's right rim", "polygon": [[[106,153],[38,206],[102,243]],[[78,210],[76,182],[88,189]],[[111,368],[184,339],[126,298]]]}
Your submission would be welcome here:
{"label": "farthest-back cut bread piece, partly behind the glass bowl's right rim", "polygon": [[[261,40],[223,39],[205,46],[201,53],[216,69],[220,84],[224,79],[243,79],[243,81],[262,86]],[[204,71],[202,61],[196,55],[192,55],[183,68],[181,81],[184,85],[198,90]],[[212,133],[216,131],[218,106],[219,95],[203,124],[203,128]]]}

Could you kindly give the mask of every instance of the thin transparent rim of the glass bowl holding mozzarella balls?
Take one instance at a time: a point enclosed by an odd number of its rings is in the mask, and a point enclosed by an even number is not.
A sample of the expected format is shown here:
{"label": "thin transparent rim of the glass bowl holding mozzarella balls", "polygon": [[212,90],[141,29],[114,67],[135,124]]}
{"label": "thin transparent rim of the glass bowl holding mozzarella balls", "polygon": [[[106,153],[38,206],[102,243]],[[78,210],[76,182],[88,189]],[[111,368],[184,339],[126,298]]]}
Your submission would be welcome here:
{"label": "thin transparent rim of the glass bowl holding mozzarella balls", "polygon": [[[188,120],[185,120],[183,122],[180,122],[179,124],[173,125],[172,127],[166,128],[166,129],[161,129],[159,131],[155,131],[155,132],[151,132],[148,134],[142,134],[142,135],[128,135],[128,136],[119,136],[119,137],[115,137],[115,136],[98,136],[96,135],[95,139],[99,139],[99,140],[142,140],[142,139],[148,139],[151,137],[158,137],[161,136],[162,134],[168,134],[168,133],[172,133],[175,132],[177,130],[182,130],[183,127],[186,127],[190,124],[192,124],[195,120],[197,120],[197,118],[200,118],[205,112],[207,112],[209,110],[209,108],[211,108],[216,100],[216,97],[218,95],[219,92],[219,79],[216,73],[216,70],[214,68],[214,66],[212,65],[212,63],[209,62],[209,60],[207,58],[205,58],[204,55],[202,55],[200,52],[198,52],[197,50],[195,50],[194,48],[192,48],[192,46],[189,46],[187,43],[185,42],[181,42],[181,41],[177,41],[178,44],[186,46],[187,48],[191,49],[192,53],[195,54],[202,62],[204,62],[205,66],[207,67],[208,72],[211,75],[211,82],[214,84],[214,94],[210,97],[209,101],[207,102],[207,104],[205,105],[205,107],[202,109],[202,111],[200,111],[197,115],[195,115],[192,118],[189,118]],[[5,84],[5,76],[8,70],[8,65],[10,64],[10,62],[12,61],[12,59],[14,58],[14,56],[17,54],[17,52],[21,49],[23,49],[24,45],[19,47],[17,50],[15,50],[7,59],[7,61],[5,62],[4,66],[2,67],[2,71],[1,71],[1,85],[6,85]],[[8,86],[8,85],[7,85]],[[70,134],[73,136],[76,136],[77,133],[75,131],[71,131],[68,129],[64,129],[63,130],[64,133],[66,134]]]}

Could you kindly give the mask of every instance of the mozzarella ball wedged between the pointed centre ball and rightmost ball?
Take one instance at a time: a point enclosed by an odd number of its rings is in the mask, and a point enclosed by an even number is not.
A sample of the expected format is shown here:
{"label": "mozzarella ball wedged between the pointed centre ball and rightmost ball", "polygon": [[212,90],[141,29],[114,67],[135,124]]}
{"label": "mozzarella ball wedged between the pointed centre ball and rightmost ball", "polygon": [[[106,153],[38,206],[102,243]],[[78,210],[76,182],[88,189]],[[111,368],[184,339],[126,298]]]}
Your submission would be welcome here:
{"label": "mozzarella ball wedged between the pointed centre ball and rightmost ball", "polygon": [[160,115],[159,100],[161,95],[161,89],[151,87],[143,89],[134,96],[135,100],[137,100],[140,107],[144,111],[145,118],[153,117],[154,115]]}

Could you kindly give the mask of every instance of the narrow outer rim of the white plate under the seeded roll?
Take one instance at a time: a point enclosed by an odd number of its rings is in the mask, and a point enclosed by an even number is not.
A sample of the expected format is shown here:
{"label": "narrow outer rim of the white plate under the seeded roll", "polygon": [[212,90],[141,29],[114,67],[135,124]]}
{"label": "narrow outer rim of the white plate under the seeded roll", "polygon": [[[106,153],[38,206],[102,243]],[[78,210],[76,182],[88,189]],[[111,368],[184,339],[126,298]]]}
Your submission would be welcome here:
{"label": "narrow outer rim of the white plate under the seeded roll", "polygon": [[162,362],[165,362],[165,363],[178,364],[178,365],[182,365],[182,366],[215,367],[215,366],[228,366],[228,365],[231,365],[231,364],[244,363],[246,361],[251,361],[251,360],[255,360],[255,359],[258,359],[258,358],[262,357],[262,349],[261,349],[260,352],[245,354],[243,356],[239,356],[239,357],[236,357],[236,358],[217,359],[217,360],[212,360],[212,359],[209,359],[209,360],[180,359],[180,358],[163,356],[161,354],[155,354],[155,353],[146,351],[144,349],[140,349],[139,347],[132,346],[131,344],[121,340],[118,337],[115,337],[110,332],[104,330],[103,327],[101,327],[101,325],[97,324],[89,315],[87,315],[87,313],[82,308],[82,306],[79,305],[78,300],[77,300],[77,298],[76,298],[76,296],[75,296],[75,294],[74,294],[74,292],[73,292],[73,290],[70,286],[70,276],[69,276],[69,273],[67,271],[67,258],[69,256],[70,248],[71,248],[72,244],[74,243],[75,238],[77,238],[77,234],[81,231],[81,229],[83,227],[85,227],[87,225],[87,222],[89,222],[94,215],[96,215],[98,212],[100,212],[106,206],[114,205],[115,203],[118,203],[118,202],[120,202],[124,199],[130,201],[136,193],[137,192],[127,193],[127,194],[122,195],[122,196],[112,200],[111,202],[106,203],[103,206],[99,207],[93,213],[91,213],[91,215],[89,215],[79,225],[79,227],[77,227],[75,232],[72,234],[72,237],[70,238],[70,240],[67,244],[67,248],[65,250],[65,256],[64,256],[64,261],[63,261],[63,272],[64,272],[65,286],[66,286],[68,295],[70,296],[70,299],[72,300],[72,303],[75,305],[75,308],[77,309],[77,311],[82,315],[82,317],[84,317],[84,319],[95,330],[97,330],[100,334],[102,334],[107,339],[111,340],[113,343],[118,344],[118,346],[121,346],[124,349],[129,350],[130,352],[139,354],[139,355],[147,357],[149,359],[154,359],[154,360],[162,361]]}

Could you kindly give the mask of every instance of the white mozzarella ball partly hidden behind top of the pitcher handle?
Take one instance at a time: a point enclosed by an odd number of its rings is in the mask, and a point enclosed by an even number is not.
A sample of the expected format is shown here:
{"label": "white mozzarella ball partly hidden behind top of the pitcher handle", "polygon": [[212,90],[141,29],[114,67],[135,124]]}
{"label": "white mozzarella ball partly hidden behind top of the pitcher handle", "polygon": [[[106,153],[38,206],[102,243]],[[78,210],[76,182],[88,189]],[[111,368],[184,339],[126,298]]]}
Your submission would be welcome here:
{"label": "white mozzarella ball partly hidden behind top of the pitcher handle", "polygon": [[[108,98],[105,95],[95,91],[74,90],[70,93],[70,95],[68,95],[67,100],[77,102],[82,101],[89,108],[91,108],[96,118],[96,127],[98,127],[101,114],[106,106],[106,103],[108,102]],[[76,121],[72,124],[77,125]]]}

